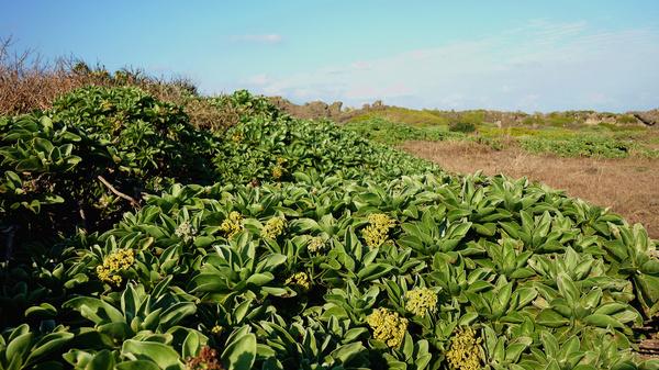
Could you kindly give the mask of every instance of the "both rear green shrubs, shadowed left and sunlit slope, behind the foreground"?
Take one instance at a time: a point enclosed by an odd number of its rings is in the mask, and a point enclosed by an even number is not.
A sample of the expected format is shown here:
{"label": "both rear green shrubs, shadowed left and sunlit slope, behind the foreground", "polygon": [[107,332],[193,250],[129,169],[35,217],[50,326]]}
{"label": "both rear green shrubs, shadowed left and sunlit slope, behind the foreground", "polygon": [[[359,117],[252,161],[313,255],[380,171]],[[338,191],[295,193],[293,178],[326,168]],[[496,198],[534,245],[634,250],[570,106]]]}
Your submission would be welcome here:
{"label": "both rear green shrubs, shadowed left and sunlit slope, behind the foreground", "polygon": [[283,180],[298,170],[389,180],[427,169],[331,123],[282,116],[247,91],[209,104],[234,106],[242,122],[228,133],[199,131],[179,106],[135,88],[99,87],[64,96],[46,112],[0,117],[0,216],[41,238],[108,228],[143,193],[175,182]]}

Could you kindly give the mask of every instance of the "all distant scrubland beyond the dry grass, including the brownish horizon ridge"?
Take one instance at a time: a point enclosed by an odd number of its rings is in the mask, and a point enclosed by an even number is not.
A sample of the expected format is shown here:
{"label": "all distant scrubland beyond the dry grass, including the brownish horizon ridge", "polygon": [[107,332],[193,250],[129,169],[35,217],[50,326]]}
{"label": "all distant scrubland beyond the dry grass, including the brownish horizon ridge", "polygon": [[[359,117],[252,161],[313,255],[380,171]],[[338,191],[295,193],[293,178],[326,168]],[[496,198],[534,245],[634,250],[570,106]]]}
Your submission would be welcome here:
{"label": "all distant scrubland beyond the dry grass, including the brownish horizon ridge", "polygon": [[566,111],[551,113],[490,110],[414,110],[384,105],[342,109],[340,102],[297,105],[269,100],[293,116],[339,122],[349,131],[388,145],[410,141],[472,142],[495,150],[522,149],[528,154],[584,158],[659,157],[659,111],[607,113]]}

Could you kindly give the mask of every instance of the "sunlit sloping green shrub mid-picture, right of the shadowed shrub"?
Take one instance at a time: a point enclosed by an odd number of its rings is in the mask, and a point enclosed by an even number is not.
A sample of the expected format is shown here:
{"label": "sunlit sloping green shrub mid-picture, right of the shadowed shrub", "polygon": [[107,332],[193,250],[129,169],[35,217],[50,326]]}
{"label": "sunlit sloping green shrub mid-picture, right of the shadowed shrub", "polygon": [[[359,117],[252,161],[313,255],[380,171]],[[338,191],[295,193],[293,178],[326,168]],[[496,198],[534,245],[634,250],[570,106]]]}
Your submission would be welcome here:
{"label": "sunlit sloping green shrub mid-picture, right of the shadowed shrub", "polygon": [[343,132],[330,122],[252,119],[232,127],[214,162],[222,181],[290,181],[292,173],[392,180],[439,169],[426,161]]}

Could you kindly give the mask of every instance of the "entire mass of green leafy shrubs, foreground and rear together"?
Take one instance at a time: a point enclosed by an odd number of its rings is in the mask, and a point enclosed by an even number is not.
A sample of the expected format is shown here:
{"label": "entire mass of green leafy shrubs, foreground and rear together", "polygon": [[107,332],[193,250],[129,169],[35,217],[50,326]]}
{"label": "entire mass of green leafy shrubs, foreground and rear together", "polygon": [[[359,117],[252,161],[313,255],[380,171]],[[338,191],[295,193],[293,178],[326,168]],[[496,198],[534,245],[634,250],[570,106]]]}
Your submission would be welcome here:
{"label": "entire mass of green leafy shrubs, foreground and rear together", "polygon": [[643,227],[211,99],[239,123],[100,88],[0,120],[0,369],[659,369]]}

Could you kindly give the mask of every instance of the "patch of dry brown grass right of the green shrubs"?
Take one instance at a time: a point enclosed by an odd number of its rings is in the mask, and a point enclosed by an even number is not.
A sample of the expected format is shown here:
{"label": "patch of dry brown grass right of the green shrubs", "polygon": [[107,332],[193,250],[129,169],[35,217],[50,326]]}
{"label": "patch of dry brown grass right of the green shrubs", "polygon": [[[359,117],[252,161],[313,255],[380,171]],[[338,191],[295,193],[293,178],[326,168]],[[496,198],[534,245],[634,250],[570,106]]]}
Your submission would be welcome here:
{"label": "patch of dry brown grass right of the green shrubs", "polygon": [[470,142],[407,142],[402,149],[453,172],[527,177],[571,197],[611,208],[630,223],[641,223],[659,238],[659,160],[536,156],[512,148],[493,150]]}

